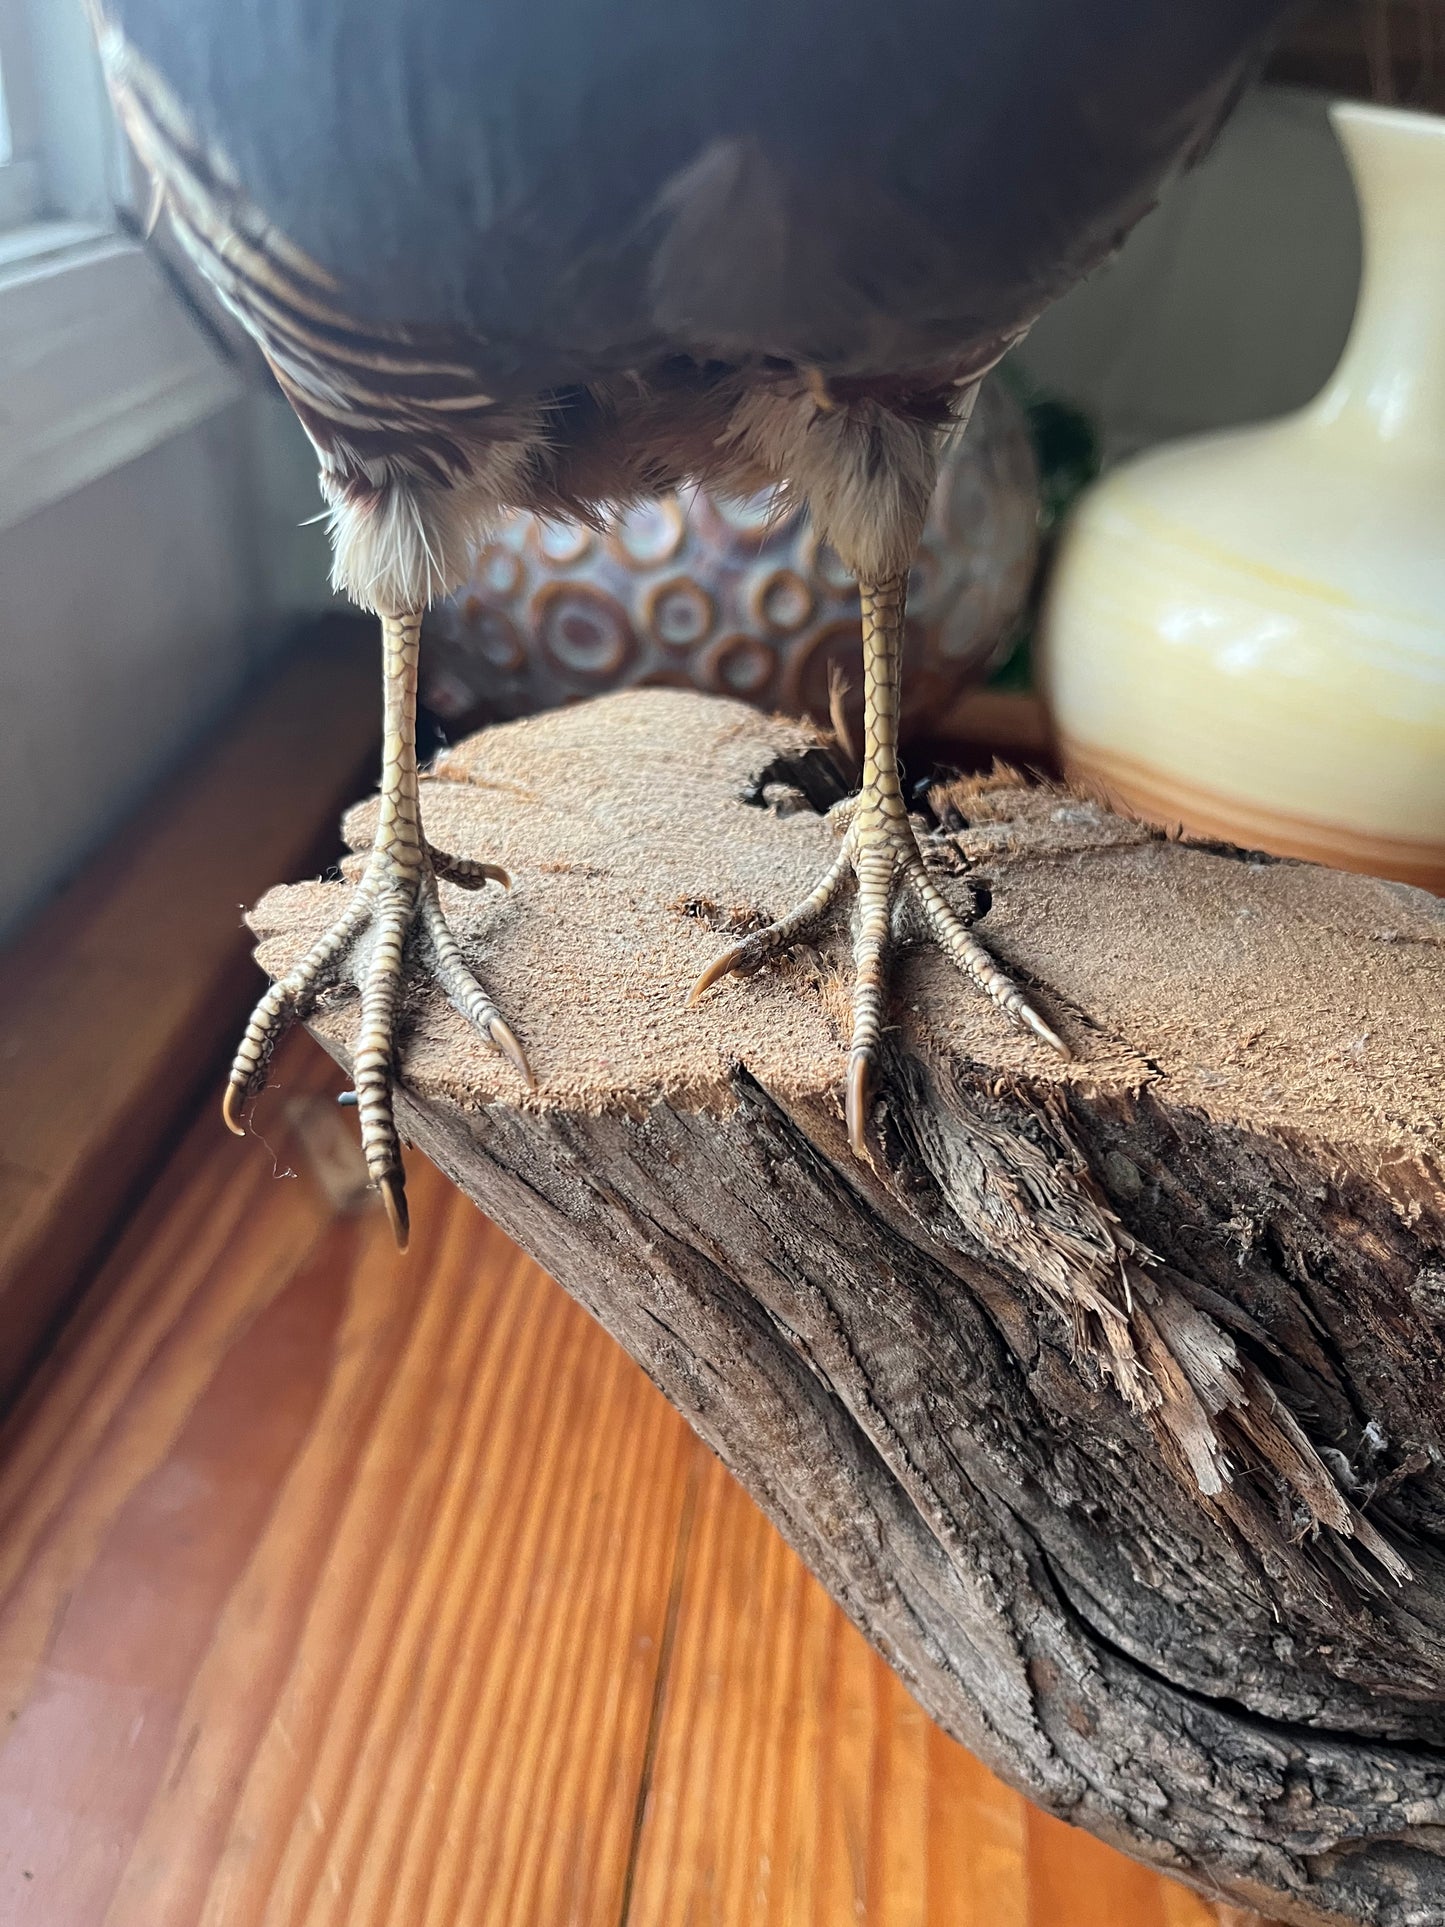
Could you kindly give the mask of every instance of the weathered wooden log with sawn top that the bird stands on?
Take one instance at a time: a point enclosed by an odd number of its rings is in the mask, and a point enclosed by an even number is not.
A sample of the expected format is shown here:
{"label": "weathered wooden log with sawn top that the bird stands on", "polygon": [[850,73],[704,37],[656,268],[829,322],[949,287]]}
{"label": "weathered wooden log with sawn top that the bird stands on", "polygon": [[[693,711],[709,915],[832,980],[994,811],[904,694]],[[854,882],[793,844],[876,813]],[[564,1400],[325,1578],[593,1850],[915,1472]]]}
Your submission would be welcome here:
{"label": "weathered wooden log with sawn top that the bird stands on", "polygon": [[[410,1141],[1029,1798],[1275,1917],[1445,1919],[1445,906],[934,792],[1077,1062],[906,944],[869,1168],[842,927],[686,1010],[834,848],[819,738],[651,690],[437,779],[434,842],[516,879],[443,896],[539,1091],[418,981]],[[268,896],[262,964],[341,898]]]}

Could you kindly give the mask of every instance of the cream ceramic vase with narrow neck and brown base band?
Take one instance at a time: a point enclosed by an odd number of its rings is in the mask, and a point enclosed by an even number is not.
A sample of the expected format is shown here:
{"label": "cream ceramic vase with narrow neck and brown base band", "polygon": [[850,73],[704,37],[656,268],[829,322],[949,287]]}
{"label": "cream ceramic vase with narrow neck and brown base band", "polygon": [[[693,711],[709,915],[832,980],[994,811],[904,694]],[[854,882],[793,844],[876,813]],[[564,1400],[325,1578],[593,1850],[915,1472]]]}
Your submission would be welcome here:
{"label": "cream ceramic vase with narrow neck and brown base band", "polygon": [[1044,690],[1127,811],[1445,892],[1445,119],[1333,121],[1366,251],[1333,380],[1085,497]]}

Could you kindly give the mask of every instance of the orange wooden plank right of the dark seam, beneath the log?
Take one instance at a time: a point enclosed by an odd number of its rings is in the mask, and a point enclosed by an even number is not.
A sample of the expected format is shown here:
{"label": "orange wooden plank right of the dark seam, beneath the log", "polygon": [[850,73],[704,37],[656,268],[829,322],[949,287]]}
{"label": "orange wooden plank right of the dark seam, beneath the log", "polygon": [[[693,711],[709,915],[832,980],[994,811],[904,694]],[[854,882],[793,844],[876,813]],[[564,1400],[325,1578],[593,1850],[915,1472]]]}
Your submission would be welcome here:
{"label": "orange wooden plank right of the dark seam, beneath the log", "polygon": [[628,1927],[1216,1927],[909,1698],[713,1459]]}

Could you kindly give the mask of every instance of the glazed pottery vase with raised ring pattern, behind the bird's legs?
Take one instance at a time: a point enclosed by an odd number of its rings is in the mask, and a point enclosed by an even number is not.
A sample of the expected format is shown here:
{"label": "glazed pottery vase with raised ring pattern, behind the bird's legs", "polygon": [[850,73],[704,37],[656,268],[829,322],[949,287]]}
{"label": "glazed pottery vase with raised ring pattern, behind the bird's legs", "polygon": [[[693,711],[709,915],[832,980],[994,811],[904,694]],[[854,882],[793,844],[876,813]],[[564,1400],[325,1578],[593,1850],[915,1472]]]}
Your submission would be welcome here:
{"label": "glazed pottery vase with raised ring pattern, behind the bird's legs", "polygon": [[[1029,424],[992,380],[946,449],[909,584],[906,732],[927,734],[1008,647],[1037,553]],[[649,684],[827,721],[832,663],[861,713],[857,584],[771,495],[665,495],[605,534],[514,515],[430,619],[422,661],[443,721]]]}

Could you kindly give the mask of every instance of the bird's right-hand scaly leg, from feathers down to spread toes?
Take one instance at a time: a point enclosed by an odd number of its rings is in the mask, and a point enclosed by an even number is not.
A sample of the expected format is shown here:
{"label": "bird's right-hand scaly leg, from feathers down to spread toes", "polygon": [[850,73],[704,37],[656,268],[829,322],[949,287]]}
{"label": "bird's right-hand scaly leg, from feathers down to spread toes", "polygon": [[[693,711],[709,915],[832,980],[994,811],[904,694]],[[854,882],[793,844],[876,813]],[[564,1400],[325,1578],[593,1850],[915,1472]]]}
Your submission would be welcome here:
{"label": "bird's right-hand scaly leg, from feathers down to spread toes", "polygon": [[898,780],[898,690],[904,657],[907,576],[859,582],[863,599],[863,788],[838,807],[844,844],[811,896],[717,958],[692,990],[696,1002],[730,971],[749,973],[800,942],[823,921],[852,879],[854,908],[854,1037],[848,1052],[848,1141],[865,1154],[873,1068],[888,987],[892,913],[900,892],[923,911],[929,935],[965,975],[1062,1056],[1067,1044],[1044,1023],[1023,990],[994,964],[961,917],[948,906],[923,865]]}

